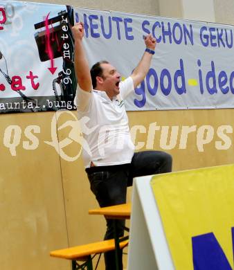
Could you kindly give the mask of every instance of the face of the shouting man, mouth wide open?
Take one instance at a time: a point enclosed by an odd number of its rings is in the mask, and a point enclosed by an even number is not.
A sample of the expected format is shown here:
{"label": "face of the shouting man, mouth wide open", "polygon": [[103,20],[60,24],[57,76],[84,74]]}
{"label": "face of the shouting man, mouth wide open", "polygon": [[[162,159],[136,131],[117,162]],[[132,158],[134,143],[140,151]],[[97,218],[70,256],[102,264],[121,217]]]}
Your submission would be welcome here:
{"label": "face of the shouting man, mouth wide open", "polygon": [[120,73],[111,64],[101,64],[102,67],[102,87],[105,89],[107,96],[113,98],[120,93]]}

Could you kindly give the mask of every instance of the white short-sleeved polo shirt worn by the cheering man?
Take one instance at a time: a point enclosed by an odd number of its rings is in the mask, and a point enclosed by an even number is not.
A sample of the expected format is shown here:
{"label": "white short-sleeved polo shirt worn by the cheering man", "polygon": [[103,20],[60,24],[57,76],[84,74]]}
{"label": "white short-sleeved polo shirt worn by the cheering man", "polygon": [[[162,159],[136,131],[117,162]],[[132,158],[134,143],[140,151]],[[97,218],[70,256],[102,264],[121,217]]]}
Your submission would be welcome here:
{"label": "white short-sleeved polo shirt worn by the cheering man", "polygon": [[134,91],[132,77],[120,82],[112,100],[105,91],[83,91],[78,86],[74,103],[83,134],[85,168],[131,163],[134,144],[129,133],[124,99]]}

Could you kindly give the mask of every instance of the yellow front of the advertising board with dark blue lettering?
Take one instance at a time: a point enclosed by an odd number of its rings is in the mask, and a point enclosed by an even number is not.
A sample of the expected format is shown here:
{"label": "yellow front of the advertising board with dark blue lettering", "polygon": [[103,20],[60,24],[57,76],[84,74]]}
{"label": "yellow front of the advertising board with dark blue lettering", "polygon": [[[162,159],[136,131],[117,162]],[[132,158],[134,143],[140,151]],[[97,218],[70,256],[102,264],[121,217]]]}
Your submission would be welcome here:
{"label": "yellow front of the advertising board with dark blue lettering", "polygon": [[158,174],[151,185],[175,268],[234,269],[234,165]]}

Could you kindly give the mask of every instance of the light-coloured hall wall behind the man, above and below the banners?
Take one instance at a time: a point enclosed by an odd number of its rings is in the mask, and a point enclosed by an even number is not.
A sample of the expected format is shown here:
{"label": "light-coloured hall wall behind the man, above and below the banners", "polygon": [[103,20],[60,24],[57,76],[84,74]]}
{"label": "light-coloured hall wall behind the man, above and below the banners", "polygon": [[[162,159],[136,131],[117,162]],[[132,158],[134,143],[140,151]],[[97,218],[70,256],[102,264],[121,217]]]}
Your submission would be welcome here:
{"label": "light-coloured hall wall behind the man, above and below the banners", "polygon": [[[43,1],[41,1],[43,2]],[[62,3],[64,1],[44,1]],[[79,5],[78,5],[79,2]],[[107,10],[183,17],[180,1],[66,1],[67,4]],[[225,19],[221,1],[215,3],[215,18]],[[232,8],[232,1],[222,1]],[[228,9],[227,9],[228,10]],[[229,13],[228,13],[229,14]],[[231,19],[231,13],[228,15]],[[219,21],[226,22],[226,21]],[[74,120],[76,113],[57,116],[57,127],[66,120]],[[69,262],[50,258],[49,251],[66,246],[84,244],[102,239],[105,221],[102,217],[89,216],[90,208],[98,207],[89,190],[89,181],[84,172],[82,159],[66,161],[57,154],[55,147],[44,141],[51,141],[53,112],[0,115],[0,211],[1,211],[1,269],[70,269]],[[234,162],[233,134],[228,134],[232,145],[228,150],[217,150],[215,142],[221,141],[217,129],[221,125],[234,126],[233,110],[186,110],[186,111],[136,111],[129,112],[129,123],[143,125],[145,133],[137,133],[136,144],[146,145],[148,127],[156,122],[159,126],[179,126],[177,143],[168,150],[174,159],[173,170],[188,170]],[[18,125],[22,130],[16,156],[3,143],[4,133],[9,125]],[[23,141],[28,141],[24,130],[28,125],[40,127],[39,145],[35,150],[25,150]],[[196,125],[197,130],[210,126],[215,136],[204,145],[204,152],[197,147],[197,134],[188,136],[186,150],[179,149],[183,125]],[[57,130],[59,142],[69,137],[71,127]],[[13,137],[12,137],[13,138]],[[11,140],[12,140],[11,138]],[[155,133],[154,149],[165,150],[161,143],[161,129]],[[144,150],[143,147],[142,150]],[[72,141],[64,147],[64,153],[75,156],[80,144]],[[60,152],[61,154],[61,152]],[[131,189],[128,199],[130,199]],[[103,264],[100,269],[103,269]]]}

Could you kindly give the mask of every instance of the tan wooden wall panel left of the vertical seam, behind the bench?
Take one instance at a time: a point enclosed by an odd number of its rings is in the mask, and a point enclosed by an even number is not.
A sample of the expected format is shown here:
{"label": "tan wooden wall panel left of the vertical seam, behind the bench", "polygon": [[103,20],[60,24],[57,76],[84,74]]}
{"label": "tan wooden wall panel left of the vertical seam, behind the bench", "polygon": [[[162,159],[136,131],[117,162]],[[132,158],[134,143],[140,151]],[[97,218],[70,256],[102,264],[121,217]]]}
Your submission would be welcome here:
{"label": "tan wooden wall panel left of the vertical seam, behind the bench", "polygon": [[[51,260],[51,249],[67,246],[60,156],[44,141],[51,137],[51,113],[1,114],[0,268],[69,269],[69,262]],[[17,126],[11,136],[10,126]],[[29,125],[39,127],[39,145],[25,150]],[[21,134],[20,134],[21,131]],[[5,141],[3,141],[5,138]],[[14,143],[15,141],[15,143]],[[10,152],[7,145],[14,147]],[[24,146],[23,146],[24,144]]]}

